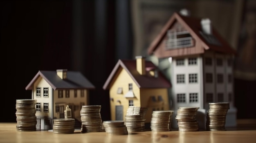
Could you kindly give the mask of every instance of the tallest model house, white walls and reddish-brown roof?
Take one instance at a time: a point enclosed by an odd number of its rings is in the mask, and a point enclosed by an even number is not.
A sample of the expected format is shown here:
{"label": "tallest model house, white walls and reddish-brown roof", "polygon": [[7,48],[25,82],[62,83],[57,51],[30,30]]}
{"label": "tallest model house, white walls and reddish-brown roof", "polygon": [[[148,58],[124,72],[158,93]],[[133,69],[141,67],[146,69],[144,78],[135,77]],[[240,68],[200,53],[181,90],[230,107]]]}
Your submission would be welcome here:
{"label": "tallest model house, white walls and reddish-brown roof", "polygon": [[[172,109],[229,102],[227,126],[236,125],[233,57],[236,51],[220,36],[208,18],[174,13],[148,48],[148,55],[170,60]],[[205,124],[203,124],[205,125]]]}

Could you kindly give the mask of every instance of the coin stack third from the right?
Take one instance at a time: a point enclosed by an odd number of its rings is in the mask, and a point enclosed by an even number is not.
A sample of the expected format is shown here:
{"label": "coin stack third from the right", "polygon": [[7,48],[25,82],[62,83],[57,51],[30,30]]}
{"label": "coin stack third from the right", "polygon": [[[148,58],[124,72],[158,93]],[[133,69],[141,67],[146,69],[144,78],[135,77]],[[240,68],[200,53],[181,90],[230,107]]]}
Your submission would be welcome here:
{"label": "coin stack third from the right", "polygon": [[164,132],[171,131],[173,111],[153,111],[150,122],[151,131]]}

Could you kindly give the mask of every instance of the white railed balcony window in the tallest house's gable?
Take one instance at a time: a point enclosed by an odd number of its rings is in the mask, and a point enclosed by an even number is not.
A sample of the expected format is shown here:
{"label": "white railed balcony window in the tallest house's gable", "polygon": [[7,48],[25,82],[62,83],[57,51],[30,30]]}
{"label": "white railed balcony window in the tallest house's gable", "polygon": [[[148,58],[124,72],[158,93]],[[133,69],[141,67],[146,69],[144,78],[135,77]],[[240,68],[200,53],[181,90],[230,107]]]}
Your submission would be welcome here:
{"label": "white railed balcony window in the tallest house's gable", "polygon": [[166,49],[186,48],[191,46],[194,46],[194,42],[189,31],[176,31],[176,29],[167,31]]}

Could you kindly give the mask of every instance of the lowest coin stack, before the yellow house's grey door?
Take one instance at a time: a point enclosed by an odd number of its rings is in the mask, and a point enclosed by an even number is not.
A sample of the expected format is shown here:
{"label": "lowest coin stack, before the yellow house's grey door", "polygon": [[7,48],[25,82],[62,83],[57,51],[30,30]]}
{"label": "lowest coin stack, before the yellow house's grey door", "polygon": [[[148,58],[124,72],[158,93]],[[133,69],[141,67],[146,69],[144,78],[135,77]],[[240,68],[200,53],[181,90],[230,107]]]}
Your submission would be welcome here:
{"label": "lowest coin stack, before the yellow house's grey door", "polygon": [[103,121],[103,126],[106,133],[113,135],[125,135],[128,134],[124,121]]}

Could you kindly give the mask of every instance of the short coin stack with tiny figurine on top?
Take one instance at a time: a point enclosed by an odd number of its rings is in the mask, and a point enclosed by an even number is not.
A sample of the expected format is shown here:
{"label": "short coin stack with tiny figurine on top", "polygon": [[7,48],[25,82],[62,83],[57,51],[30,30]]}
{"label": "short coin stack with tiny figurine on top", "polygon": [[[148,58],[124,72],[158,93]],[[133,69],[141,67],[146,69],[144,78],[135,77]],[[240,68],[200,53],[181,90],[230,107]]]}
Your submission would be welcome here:
{"label": "short coin stack with tiny figurine on top", "polygon": [[57,134],[72,134],[74,133],[75,119],[54,119],[53,132]]}

